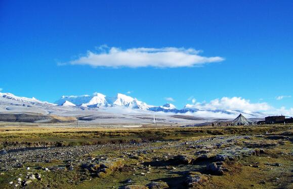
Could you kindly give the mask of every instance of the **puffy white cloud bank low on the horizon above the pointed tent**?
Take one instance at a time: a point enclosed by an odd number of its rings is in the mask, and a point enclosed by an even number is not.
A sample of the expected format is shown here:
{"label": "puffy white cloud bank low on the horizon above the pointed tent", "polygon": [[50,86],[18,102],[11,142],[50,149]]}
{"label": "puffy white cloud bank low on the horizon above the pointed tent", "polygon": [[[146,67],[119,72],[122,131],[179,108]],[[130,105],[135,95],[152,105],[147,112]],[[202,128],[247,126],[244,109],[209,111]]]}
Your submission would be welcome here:
{"label": "puffy white cloud bank low on the horizon above the pointed tent", "polygon": [[249,100],[241,97],[223,97],[215,99],[209,103],[195,103],[194,105],[186,105],[186,108],[196,108],[199,110],[245,110],[245,111],[267,111],[272,107],[267,103],[250,103]]}

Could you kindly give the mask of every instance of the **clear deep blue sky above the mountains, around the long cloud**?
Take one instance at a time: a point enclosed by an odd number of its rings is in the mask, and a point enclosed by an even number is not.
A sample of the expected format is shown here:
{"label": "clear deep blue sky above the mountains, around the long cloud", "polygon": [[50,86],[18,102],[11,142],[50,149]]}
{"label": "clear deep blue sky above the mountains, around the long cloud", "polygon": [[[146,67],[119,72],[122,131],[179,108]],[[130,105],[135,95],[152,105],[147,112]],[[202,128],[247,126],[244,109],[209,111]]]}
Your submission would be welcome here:
{"label": "clear deep blue sky above the mountains, around the long cloud", "polygon": [[[131,91],[152,105],[170,97],[179,108],[193,98],[242,97],[289,109],[292,7],[293,1],[0,1],[0,88],[49,102]],[[187,56],[193,49],[223,60],[175,67],[95,66],[100,59],[72,64],[88,51],[98,56],[101,45],[121,52],[184,48],[179,51]]]}

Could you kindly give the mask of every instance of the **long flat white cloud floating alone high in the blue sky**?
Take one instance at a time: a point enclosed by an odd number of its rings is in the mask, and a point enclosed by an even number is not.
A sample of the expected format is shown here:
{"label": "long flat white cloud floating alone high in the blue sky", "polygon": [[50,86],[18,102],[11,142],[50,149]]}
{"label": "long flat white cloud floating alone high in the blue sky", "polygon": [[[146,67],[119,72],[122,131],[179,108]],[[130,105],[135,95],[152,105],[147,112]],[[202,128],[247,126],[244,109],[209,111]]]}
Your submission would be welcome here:
{"label": "long flat white cloud floating alone high in the blue sky", "polygon": [[207,63],[221,62],[222,57],[203,57],[194,49],[185,48],[133,48],[122,50],[109,48],[106,45],[96,48],[98,52],[88,51],[86,56],[81,56],[70,61],[71,65],[90,65],[93,67],[156,67],[177,68],[193,67]]}

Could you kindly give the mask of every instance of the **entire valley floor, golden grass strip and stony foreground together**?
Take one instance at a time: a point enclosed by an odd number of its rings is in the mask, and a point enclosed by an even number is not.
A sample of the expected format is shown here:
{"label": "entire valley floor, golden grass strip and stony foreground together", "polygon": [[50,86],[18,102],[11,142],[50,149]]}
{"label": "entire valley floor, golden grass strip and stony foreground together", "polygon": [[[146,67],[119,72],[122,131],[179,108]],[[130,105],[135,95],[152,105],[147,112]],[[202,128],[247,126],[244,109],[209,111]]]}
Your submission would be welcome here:
{"label": "entire valley floor, golden grass strip and stony foreground together", "polygon": [[0,127],[0,185],[292,188],[292,126]]}

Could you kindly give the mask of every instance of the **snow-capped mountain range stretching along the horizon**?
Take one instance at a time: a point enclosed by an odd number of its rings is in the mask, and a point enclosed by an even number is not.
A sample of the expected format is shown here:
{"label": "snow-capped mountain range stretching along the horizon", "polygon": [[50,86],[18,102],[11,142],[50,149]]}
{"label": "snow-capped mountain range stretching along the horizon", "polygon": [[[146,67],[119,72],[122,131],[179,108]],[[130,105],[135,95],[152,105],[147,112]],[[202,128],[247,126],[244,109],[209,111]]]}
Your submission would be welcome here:
{"label": "snow-capped mountain range stretching along the horizon", "polygon": [[[17,108],[18,107],[18,108]],[[22,108],[19,108],[22,107]],[[54,113],[60,111],[78,111],[78,110],[107,110],[111,109],[123,110],[132,109],[141,112],[160,112],[172,114],[188,114],[199,117],[235,117],[239,113],[247,117],[264,117],[261,112],[243,112],[240,110],[199,110],[193,108],[192,105],[186,105],[183,109],[177,109],[173,104],[165,104],[163,106],[152,106],[127,95],[118,93],[115,97],[107,97],[102,93],[94,93],[93,95],[83,96],[62,96],[53,103],[39,101],[35,98],[17,97],[12,93],[0,92],[0,113],[7,111],[17,112],[38,112],[38,113]],[[43,112],[42,112],[43,111]]]}

